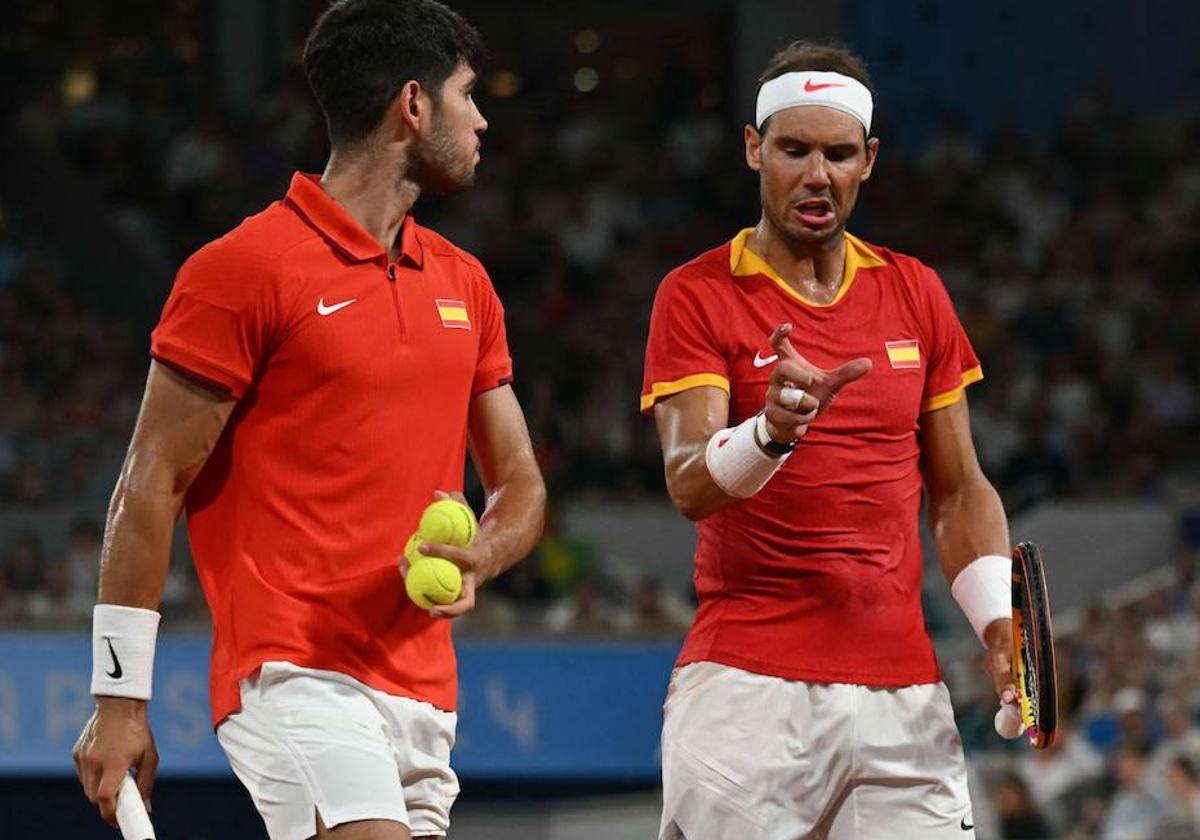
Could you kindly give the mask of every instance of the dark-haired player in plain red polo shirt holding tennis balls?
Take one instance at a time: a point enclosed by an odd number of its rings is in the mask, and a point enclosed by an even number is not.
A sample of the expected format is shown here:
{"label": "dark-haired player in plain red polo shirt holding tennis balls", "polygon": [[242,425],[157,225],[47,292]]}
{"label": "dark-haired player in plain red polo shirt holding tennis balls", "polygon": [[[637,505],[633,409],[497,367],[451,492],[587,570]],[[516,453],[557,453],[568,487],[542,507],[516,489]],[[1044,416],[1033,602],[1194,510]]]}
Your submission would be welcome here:
{"label": "dark-haired player in plain red polo shirt holding tennis balls", "polygon": [[[212,720],[272,840],[407,840],[449,827],[457,695],[446,618],[527,553],[545,490],[504,312],[484,268],[419,226],[466,188],[487,127],[476,31],[433,0],[338,0],[304,55],[320,176],[192,256],[151,338],[109,509],[94,618],[96,712],[76,745],[114,818],[146,722],[180,509],[212,613]],[[463,592],[432,613],[397,570],[436,491],[487,490]]]}

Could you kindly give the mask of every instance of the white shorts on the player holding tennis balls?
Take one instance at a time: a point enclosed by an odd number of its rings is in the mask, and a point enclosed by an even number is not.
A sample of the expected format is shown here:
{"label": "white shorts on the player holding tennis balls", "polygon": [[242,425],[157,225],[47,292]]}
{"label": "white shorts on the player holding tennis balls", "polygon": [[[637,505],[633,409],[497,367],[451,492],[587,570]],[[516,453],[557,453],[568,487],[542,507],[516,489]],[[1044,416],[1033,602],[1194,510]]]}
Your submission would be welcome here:
{"label": "white shorts on the player holding tennis balls", "polygon": [[241,710],[217,740],[271,840],[313,836],[317,812],[326,828],[391,820],[419,838],[450,826],[456,722],[346,674],[265,662],[241,680]]}

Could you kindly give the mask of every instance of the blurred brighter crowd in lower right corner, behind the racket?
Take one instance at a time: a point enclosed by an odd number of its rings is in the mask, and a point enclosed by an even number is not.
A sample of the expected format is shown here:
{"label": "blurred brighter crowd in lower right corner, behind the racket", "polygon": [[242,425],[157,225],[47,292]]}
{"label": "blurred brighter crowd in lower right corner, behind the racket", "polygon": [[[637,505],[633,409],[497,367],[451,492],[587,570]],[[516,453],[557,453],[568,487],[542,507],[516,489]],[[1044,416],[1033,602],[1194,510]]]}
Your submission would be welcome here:
{"label": "blurred brighter crowd in lower right corner, behind the racket", "polygon": [[1048,750],[1001,743],[982,660],[950,666],[988,836],[1200,838],[1200,552],[1181,554],[1176,572],[1174,586],[1118,607],[1094,605],[1058,636],[1061,722]]}

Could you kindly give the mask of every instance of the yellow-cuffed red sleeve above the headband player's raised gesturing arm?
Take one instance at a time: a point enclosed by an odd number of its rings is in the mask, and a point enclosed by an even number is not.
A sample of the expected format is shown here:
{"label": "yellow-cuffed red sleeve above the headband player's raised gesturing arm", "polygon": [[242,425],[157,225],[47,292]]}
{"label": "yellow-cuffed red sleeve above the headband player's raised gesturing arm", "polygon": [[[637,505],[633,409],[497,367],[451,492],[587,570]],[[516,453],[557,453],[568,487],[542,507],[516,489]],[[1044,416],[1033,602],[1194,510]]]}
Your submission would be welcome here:
{"label": "yellow-cuffed red sleeve above the headband player's raised gesturing arm", "polygon": [[720,336],[721,301],[686,268],[668,274],[654,296],[646,342],[642,412],[680,391],[702,385],[730,391],[728,356]]}

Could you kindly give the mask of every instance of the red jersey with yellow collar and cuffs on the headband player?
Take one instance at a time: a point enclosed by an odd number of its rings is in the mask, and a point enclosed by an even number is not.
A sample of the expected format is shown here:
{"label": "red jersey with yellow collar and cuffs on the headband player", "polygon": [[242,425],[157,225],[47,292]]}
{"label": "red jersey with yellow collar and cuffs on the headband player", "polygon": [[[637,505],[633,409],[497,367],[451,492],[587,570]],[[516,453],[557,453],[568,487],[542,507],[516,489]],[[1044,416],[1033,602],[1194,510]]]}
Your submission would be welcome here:
{"label": "red jersey with yellow collar and cuffs on the headband player", "polygon": [[756,496],[697,524],[700,610],[679,665],[722,662],[785,679],[898,686],[937,680],[920,607],[923,412],[983,377],[944,287],[912,257],[846,234],[836,298],[802,298],[746,246],[750,230],[666,276],[654,300],[642,410],[709,385],[730,425],[760,412],[775,362],[768,337],[847,385]]}

